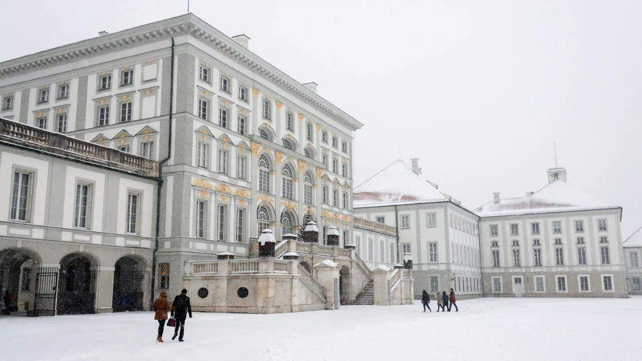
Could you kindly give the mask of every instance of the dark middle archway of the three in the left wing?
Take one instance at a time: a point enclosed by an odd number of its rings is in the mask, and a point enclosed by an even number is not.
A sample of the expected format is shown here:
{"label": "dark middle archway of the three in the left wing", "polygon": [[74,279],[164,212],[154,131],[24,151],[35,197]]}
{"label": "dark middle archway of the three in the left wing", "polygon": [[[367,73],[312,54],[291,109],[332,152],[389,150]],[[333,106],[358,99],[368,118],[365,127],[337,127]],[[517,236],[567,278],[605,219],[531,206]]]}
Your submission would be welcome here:
{"label": "dark middle archway of the three in the left wing", "polygon": [[58,315],[95,312],[97,265],[82,253],[68,254],[60,260]]}

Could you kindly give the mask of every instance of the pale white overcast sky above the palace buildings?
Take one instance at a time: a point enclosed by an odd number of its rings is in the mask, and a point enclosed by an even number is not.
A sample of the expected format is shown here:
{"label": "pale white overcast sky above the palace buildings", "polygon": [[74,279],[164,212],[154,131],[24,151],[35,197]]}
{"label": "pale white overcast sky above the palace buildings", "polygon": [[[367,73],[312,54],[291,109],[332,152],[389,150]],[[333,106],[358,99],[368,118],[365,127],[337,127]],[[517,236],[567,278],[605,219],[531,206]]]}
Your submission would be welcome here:
{"label": "pale white overcast sky above the palace buildings", "polygon": [[[187,12],[3,1],[0,60]],[[37,9],[37,11],[35,11]],[[401,157],[471,209],[546,169],[642,226],[642,1],[207,1],[190,11],[364,123],[355,184]],[[15,30],[15,31],[14,31]]]}

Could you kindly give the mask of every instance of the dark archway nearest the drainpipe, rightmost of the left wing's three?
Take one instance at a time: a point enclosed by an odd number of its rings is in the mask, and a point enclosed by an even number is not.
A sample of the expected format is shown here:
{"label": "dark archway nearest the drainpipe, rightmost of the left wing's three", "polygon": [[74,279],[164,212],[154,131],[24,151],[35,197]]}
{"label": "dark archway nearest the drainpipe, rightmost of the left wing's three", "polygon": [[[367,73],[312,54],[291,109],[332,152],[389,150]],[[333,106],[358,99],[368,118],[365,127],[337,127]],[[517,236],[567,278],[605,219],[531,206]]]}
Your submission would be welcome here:
{"label": "dark archway nearest the drainpipe, rightmost of the left wing's three", "polygon": [[133,256],[124,256],[114,267],[114,312],[142,311],[145,279],[144,261]]}

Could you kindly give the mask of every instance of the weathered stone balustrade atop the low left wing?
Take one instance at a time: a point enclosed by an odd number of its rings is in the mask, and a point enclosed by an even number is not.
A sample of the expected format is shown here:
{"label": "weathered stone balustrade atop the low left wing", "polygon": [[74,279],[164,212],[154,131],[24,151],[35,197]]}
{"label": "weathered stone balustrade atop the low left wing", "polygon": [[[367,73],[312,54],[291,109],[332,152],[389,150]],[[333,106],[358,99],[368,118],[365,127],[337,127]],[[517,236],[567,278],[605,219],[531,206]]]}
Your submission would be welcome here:
{"label": "weathered stone balustrade atop the low left wing", "polygon": [[159,164],[151,159],[68,137],[64,134],[31,127],[9,119],[0,118],[0,127],[0,143],[20,146],[94,166],[114,168],[143,177],[159,176]]}

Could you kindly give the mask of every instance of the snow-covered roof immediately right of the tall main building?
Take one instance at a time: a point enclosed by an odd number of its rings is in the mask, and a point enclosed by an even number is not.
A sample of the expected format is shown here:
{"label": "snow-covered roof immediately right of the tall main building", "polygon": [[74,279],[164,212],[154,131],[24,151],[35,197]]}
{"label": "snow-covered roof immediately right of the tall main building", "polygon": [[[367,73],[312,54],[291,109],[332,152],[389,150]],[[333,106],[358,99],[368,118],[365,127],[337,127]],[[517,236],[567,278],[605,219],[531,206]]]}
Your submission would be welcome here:
{"label": "snow-covered roof immediately right of the tall main building", "polygon": [[356,186],[352,198],[355,208],[451,200],[401,159]]}

